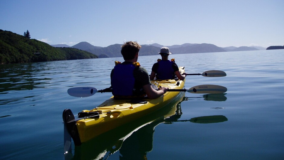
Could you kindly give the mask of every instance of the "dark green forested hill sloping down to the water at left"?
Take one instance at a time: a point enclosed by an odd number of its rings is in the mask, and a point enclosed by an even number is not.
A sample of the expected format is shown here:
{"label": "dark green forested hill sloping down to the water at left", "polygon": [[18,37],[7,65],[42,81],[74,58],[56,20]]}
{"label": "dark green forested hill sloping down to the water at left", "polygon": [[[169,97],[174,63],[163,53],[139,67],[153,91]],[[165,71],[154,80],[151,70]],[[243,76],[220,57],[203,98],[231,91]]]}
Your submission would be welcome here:
{"label": "dark green forested hill sloping down to the water at left", "polygon": [[0,30],[0,63],[90,59],[96,55],[76,48],[57,48],[10,31]]}

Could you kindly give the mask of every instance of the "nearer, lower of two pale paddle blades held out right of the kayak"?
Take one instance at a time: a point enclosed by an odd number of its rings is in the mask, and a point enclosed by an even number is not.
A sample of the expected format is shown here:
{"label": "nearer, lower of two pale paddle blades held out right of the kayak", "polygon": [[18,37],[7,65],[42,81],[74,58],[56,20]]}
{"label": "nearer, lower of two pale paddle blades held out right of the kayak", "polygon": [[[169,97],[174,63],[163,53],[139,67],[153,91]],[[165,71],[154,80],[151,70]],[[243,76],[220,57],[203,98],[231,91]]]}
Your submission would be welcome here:
{"label": "nearer, lower of two pale paddle blades held out right of the kayak", "polygon": [[188,89],[190,93],[220,94],[227,91],[226,87],[220,85],[197,85]]}

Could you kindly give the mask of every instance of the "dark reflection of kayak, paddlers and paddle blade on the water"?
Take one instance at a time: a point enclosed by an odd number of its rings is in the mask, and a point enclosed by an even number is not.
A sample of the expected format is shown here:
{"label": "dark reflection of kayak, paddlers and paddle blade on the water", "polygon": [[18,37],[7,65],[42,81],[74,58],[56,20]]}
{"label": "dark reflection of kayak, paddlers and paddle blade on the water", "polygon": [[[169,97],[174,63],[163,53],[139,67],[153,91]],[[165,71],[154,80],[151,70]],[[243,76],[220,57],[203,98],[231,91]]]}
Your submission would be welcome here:
{"label": "dark reflection of kayak, paddlers and paddle blade on the water", "polygon": [[[120,160],[147,159],[147,152],[153,149],[154,129],[160,123],[171,124],[186,121],[192,123],[218,123],[228,120],[222,115],[179,120],[182,115],[181,102],[189,99],[184,95],[182,92],[176,98],[176,101],[155,113],[111,130],[83,143],[81,146],[75,146],[73,159],[108,159],[115,152],[120,153]],[[210,100],[213,99],[210,98]]]}

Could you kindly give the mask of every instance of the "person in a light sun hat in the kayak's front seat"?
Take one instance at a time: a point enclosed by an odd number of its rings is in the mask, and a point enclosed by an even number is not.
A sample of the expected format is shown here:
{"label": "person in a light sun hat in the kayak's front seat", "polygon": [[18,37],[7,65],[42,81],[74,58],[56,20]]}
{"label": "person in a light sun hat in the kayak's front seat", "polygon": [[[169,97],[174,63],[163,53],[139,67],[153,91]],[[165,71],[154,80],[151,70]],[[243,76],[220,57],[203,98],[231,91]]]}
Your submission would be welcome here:
{"label": "person in a light sun hat in the kayak's front seat", "polygon": [[156,76],[156,79],[174,79],[175,75],[180,80],[186,78],[185,74],[179,72],[179,67],[175,63],[175,59],[168,60],[169,55],[172,54],[169,52],[168,47],[162,47],[159,54],[162,56],[162,59],[158,59],[157,63],[154,63],[152,67],[152,72],[150,74],[150,80],[153,80]]}

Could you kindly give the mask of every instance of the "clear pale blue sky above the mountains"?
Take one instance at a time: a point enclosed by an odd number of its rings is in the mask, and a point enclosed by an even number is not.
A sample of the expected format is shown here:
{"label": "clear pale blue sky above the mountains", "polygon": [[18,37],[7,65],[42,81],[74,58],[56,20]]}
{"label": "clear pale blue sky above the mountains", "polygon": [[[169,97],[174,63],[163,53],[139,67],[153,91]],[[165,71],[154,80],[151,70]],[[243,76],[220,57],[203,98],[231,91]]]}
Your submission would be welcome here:
{"label": "clear pale blue sky above the mountains", "polygon": [[284,0],[1,0],[0,29],[69,46],[283,46]]}

